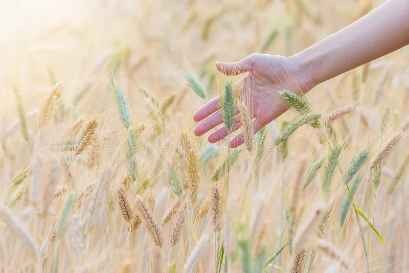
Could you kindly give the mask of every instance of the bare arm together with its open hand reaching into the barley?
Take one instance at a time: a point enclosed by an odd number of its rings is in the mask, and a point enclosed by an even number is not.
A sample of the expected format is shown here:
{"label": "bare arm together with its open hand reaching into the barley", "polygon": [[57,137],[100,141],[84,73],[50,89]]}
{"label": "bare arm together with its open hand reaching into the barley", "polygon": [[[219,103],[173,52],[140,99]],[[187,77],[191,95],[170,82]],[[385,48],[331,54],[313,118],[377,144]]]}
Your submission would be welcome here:
{"label": "bare arm together with its open hand reaching into the barley", "polygon": [[[216,67],[227,76],[247,73],[235,89],[240,88],[241,99],[245,97],[249,102],[257,132],[287,110],[271,91],[288,89],[307,93],[317,84],[409,44],[408,14],[409,0],[389,0],[296,55],[251,54],[236,62],[216,62]],[[200,122],[194,129],[195,135],[205,134],[223,123],[218,101],[218,97],[212,99],[193,114],[193,120]],[[240,127],[237,117],[232,131]],[[208,140],[215,143],[227,135],[228,131],[222,127],[212,132]],[[243,142],[239,134],[230,147],[236,148]]]}

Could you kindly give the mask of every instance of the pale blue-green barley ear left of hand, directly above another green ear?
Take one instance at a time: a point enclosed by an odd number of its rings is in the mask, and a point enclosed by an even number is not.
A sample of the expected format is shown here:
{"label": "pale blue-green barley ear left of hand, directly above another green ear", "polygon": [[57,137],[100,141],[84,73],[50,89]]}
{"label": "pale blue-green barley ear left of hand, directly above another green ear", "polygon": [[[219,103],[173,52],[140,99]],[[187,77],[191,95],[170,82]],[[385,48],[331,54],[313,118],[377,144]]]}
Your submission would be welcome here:
{"label": "pale blue-green barley ear left of hand, directly above another green ear", "polygon": [[108,85],[109,89],[111,89],[113,97],[117,101],[118,114],[122,121],[122,124],[125,126],[125,128],[128,128],[130,124],[129,108],[128,103],[126,101],[123,86],[121,86],[122,84],[118,79],[119,76],[117,73],[118,73],[117,71],[112,73],[113,75],[111,75],[111,79],[109,79]]}

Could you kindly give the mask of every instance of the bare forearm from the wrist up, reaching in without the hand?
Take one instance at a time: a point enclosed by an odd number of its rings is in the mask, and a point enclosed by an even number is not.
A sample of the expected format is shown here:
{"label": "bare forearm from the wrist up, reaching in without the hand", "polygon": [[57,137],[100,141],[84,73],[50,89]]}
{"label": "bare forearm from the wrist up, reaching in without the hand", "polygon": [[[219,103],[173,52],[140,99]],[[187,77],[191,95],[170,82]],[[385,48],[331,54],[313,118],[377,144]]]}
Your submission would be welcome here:
{"label": "bare forearm from the wrist up, reaching in without the hand", "polygon": [[292,56],[311,87],[409,44],[409,0],[390,0]]}

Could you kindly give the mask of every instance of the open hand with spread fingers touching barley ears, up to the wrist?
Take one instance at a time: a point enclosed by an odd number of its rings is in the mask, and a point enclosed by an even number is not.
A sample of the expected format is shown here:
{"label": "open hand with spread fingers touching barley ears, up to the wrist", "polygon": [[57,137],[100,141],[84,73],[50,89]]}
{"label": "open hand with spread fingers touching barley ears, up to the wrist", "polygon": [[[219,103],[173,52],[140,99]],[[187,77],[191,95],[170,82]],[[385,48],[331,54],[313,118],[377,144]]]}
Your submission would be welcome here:
{"label": "open hand with spread fingers touching barley ears, up to the wrist", "polygon": [[[298,62],[294,57],[283,57],[268,54],[252,54],[246,58],[231,63],[216,62],[217,69],[228,76],[248,72],[235,84],[236,92],[240,92],[240,100],[244,101],[251,109],[256,120],[253,123],[254,131],[259,131],[263,126],[275,120],[287,107],[277,96],[277,92],[287,89],[292,92],[308,92],[313,84],[301,72]],[[203,120],[204,119],[204,120]],[[219,106],[219,97],[216,97],[200,107],[193,115],[194,121],[202,121],[194,129],[200,136],[223,122]],[[231,131],[241,127],[240,117],[235,118]],[[215,143],[228,135],[222,127],[209,135],[209,142]],[[243,144],[240,133],[230,142],[230,147],[236,148]]]}

